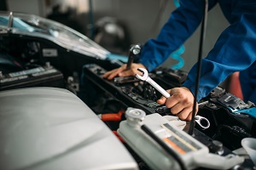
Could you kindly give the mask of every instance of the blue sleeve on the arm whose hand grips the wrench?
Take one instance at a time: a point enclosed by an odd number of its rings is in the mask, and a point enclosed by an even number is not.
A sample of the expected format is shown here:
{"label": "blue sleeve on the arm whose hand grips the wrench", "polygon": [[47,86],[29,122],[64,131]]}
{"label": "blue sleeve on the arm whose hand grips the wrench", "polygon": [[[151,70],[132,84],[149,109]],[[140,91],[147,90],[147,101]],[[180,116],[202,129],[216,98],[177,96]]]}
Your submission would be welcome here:
{"label": "blue sleeve on the arm whose hand grips the wrench", "polygon": [[[256,3],[254,0],[241,0],[233,5],[230,26],[218,37],[207,57],[202,59],[198,101],[231,73],[246,70],[256,60]],[[196,65],[183,83],[193,94],[195,77]]]}

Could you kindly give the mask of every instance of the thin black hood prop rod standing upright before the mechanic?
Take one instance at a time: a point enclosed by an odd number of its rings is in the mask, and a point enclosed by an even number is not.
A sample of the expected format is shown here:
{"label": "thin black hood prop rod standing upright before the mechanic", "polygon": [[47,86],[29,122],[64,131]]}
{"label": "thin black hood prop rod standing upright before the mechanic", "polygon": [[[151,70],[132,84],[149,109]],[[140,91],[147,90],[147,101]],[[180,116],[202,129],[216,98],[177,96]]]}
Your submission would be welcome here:
{"label": "thin black hood prop rod standing upright before the mechanic", "polygon": [[196,70],[197,75],[196,75],[196,81],[195,81],[195,96],[194,96],[194,104],[193,104],[193,110],[192,110],[192,120],[189,123],[190,135],[194,133],[194,128],[195,128],[195,107],[196,107],[196,100],[197,100],[197,94],[198,94],[200,76],[201,76],[201,59],[202,59],[203,44],[206,38],[207,12],[208,12],[208,0],[205,0],[204,14],[203,14],[203,19],[201,23],[201,36],[200,36],[199,54],[198,54],[198,60],[197,60],[197,70]]}

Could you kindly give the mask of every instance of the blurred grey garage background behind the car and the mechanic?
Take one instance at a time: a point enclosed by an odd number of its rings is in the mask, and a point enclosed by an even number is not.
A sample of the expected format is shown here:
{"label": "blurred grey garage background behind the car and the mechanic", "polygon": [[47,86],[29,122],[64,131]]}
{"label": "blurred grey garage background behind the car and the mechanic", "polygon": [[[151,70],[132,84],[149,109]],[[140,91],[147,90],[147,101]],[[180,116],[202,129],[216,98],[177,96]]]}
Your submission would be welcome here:
{"label": "blurred grey garage background behind the car and the mechanic", "polygon": [[[1,0],[1,10],[36,14],[59,21],[83,33],[115,54],[127,55],[131,44],[157,36],[177,1],[173,0]],[[207,19],[207,37],[203,56],[213,47],[228,26],[217,6]],[[198,56],[200,27],[184,43],[183,71],[189,71]],[[164,66],[177,64],[168,59]]]}

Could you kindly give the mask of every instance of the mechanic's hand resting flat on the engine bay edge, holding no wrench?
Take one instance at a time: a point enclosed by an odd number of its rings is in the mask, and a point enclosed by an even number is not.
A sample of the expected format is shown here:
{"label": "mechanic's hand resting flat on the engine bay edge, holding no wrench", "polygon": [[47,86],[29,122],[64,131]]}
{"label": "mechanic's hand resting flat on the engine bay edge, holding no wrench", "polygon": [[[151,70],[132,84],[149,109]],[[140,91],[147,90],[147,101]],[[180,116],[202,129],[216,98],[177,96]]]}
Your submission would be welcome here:
{"label": "mechanic's hand resting flat on the engine bay edge, holding no wrench", "polygon": [[108,71],[103,75],[103,78],[108,78],[108,80],[112,80],[113,77],[129,77],[129,76],[135,76],[136,74],[142,74],[140,71],[137,71],[137,68],[144,68],[146,67],[143,64],[140,63],[132,63],[131,69],[126,70],[126,64],[120,66],[117,69],[114,69],[112,71]]}

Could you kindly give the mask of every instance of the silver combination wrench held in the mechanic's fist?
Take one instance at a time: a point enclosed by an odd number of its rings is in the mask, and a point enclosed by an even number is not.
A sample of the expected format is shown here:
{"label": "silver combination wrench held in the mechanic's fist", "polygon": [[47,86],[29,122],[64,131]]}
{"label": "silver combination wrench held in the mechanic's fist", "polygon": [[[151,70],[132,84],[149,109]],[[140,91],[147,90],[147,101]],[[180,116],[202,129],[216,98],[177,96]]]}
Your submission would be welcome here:
{"label": "silver combination wrench held in the mechanic's fist", "polygon": [[[158,83],[154,82],[154,80],[148,76],[148,71],[146,69],[138,68],[137,71],[140,71],[143,73],[143,76],[136,74],[135,77],[137,77],[137,79],[148,82],[155,89],[157,89],[161,94],[163,94],[163,96],[165,96],[166,98],[169,98],[171,96],[168,92],[166,92],[164,88],[160,87]],[[206,117],[195,116],[195,122],[197,122],[203,128],[210,127],[210,122]],[[201,122],[204,122],[204,123],[201,123]]]}

